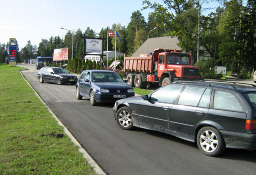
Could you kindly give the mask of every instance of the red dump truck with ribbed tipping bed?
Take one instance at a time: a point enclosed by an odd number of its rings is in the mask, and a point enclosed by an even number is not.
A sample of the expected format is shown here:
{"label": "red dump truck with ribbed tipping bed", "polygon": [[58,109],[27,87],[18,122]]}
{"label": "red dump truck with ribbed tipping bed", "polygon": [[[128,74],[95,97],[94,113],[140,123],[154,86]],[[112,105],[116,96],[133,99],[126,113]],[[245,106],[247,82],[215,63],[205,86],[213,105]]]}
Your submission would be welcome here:
{"label": "red dump truck with ribbed tipping bed", "polygon": [[177,80],[202,80],[191,54],[176,49],[155,49],[149,57],[124,57],[124,71],[128,83],[141,89],[148,83],[164,86]]}

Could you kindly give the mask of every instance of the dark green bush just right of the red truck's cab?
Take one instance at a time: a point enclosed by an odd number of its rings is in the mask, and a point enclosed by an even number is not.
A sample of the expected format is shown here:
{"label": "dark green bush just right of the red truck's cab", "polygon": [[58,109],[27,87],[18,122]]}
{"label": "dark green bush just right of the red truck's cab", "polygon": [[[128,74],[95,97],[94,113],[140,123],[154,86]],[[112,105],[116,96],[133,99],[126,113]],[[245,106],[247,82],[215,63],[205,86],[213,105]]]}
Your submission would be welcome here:
{"label": "dark green bush just right of the red truck's cab", "polygon": [[216,60],[209,58],[208,60],[199,60],[195,66],[199,67],[199,73],[202,78],[221,79],[222,74],[215,74],[214,67],[217,65]]}

